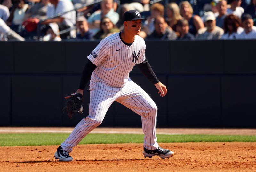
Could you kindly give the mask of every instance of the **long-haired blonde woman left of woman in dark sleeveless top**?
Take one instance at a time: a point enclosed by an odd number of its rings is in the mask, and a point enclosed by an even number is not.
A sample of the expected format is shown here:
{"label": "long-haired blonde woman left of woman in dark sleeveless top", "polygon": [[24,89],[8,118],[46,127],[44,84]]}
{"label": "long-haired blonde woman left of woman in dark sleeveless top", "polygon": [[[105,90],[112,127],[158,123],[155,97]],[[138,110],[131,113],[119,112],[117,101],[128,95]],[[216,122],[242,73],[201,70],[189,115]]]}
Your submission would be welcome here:
{"label": "long-haired blonde woman left of woman in dark sleeveless top", "polygon": [[179,6],[176,3],[170,3],[166,6],[166,16],[168,25],[177,32],[176,26],[177,22],[182,19],[180,15]]}

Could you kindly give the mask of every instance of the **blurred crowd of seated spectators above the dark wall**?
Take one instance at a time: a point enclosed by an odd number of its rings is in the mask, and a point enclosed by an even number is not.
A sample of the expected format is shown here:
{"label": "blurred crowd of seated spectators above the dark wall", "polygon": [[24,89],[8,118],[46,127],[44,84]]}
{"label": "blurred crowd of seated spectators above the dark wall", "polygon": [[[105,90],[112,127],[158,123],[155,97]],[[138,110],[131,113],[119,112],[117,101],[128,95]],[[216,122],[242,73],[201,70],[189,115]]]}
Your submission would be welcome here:
{"label": "blurred crowd of seated spectators above the dark wall", "polygon": [[256,0],[95,1],[0,0],[0,41],[103,39],[123,30],[128,10],[147,19],[144,39],[256,39]]}

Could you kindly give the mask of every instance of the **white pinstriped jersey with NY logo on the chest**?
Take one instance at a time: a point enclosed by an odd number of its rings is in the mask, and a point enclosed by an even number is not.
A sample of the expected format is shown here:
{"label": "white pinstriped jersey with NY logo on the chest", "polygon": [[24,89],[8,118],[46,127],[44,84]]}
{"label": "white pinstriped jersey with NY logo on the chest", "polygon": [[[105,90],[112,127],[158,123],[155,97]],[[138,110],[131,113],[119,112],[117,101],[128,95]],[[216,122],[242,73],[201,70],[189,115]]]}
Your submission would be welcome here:
{"label": "white pinstriped jersey with NY logo on the chest", "polygon": [[100,81],[110,86],[123,87],[135,64],[145,61],[145,41],[136,35],[132,45],[128,46],[120,34],[112,34],[101,40],[88,56],[97,66],[92,73],[91,84]]}

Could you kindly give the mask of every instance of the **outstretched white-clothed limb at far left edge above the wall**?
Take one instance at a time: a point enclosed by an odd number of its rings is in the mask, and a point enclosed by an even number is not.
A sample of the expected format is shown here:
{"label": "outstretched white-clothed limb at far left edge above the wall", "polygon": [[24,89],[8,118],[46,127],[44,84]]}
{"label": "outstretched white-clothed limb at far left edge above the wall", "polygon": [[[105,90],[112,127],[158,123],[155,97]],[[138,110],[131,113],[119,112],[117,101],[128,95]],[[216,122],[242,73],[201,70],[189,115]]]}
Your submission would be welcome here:
{"label": "outstretched white-clothed limb at far left edge above the wall", "polygon": [[0,41],[6,41],[7,39],[25,41],[24,38],[14,32],[9,26],[6,25],[4,20],[0,18]]}

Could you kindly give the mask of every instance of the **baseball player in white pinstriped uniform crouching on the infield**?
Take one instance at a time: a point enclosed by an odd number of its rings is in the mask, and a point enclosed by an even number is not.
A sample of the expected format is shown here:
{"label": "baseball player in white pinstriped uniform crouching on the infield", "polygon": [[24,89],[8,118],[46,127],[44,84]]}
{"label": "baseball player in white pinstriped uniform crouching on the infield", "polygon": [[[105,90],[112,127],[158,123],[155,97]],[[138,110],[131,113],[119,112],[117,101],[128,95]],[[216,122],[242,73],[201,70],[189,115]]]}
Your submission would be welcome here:
{"label": "baseball player in white pinstriped uniform crouching on the infield", "polygon": [[[161,97],[167,93],[166,86],[159,82],[145,57],[145,41],[138,36],[141,28],[140,12],[130,10],[124,13],[124,31],[112,34],[100,41],[88,56],[76,93],[69,99],[83,95],[90,80],[89,115],[82,119],[58,147],[55,158],[72,161],[69,155],[88,133],[99,126],[110,105],[117,101],[141,116],[144,136],[144,157],[169,158],[173,152],[158,146],[156,138],[157,106],[148,94],[129,78],[129,72],[137,64],[142,73],[156,86]],[[80,97],[81,97],[80,96]],[[80,97],[78,99],[80,100]]]}

